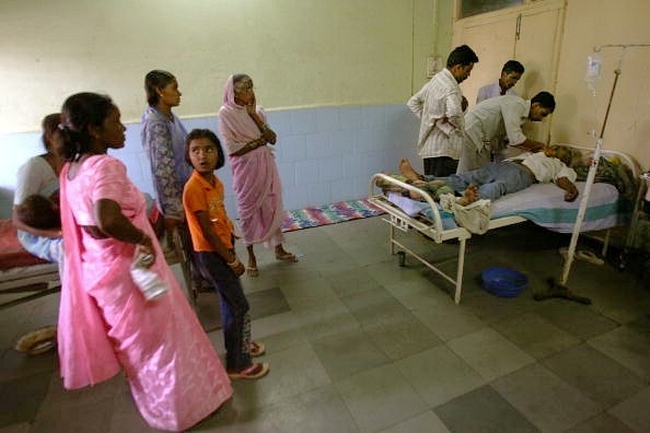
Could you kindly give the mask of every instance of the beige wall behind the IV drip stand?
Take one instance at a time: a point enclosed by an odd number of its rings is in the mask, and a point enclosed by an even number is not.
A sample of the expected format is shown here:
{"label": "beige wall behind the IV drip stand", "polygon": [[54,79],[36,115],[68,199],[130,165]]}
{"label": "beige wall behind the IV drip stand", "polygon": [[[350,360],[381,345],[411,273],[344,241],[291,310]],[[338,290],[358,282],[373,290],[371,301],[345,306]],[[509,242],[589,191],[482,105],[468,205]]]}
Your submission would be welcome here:
{"label": "beige wall behind the IV drip stand", "polygon": [[558,142],[593,145],[600,136],[616,69],[620,70],[604,147],[631,154],[650,168],[650,47],[603,48],[602,78],[595,98],[587,89],[587,56],[604,45],[650,44],[650,1],[569,0],[557,83],[558,106],[553,114]]}

